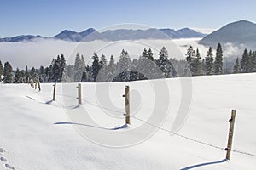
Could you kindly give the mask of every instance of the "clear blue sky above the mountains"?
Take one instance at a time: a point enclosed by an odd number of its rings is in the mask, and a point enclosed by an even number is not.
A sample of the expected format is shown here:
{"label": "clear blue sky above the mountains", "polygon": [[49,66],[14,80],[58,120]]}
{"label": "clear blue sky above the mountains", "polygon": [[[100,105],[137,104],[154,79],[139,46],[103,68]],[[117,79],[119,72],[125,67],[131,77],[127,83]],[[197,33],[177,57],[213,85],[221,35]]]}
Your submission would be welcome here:
{"label": "clear blue sky above the mountains", "polygon": [[218,29],[236,20],[255,23],[255,7],[255,0],[0,0],[0,37],[50,37],[123,23]]}

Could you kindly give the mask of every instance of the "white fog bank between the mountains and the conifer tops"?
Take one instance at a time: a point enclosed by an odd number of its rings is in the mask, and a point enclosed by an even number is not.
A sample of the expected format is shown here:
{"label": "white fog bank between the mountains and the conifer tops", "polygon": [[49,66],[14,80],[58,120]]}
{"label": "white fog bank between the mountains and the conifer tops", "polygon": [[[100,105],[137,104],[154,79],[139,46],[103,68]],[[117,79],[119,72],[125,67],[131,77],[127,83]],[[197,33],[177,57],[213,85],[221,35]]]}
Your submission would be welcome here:
{"label": "white fog bank between the mountains and the conifer tops", "polygon": [[[77,53],[83,54],[86,64],[90,63],[90,58],[94,52],[98,56],[105,54],[107,59],[113,54],[114,59],[119,60],[119,54],[124,48],[131,56],[131,59],[138,58],[143,52],[143,48],[152,48],[154,58],[158,59],[160,48],[163,46],[168,50],[172,58],[185,59],[185,54],[189,45],[199,48],[201,57],[204,58],[208,48],[198,44],[201,38],[183,38],[174,40],[138,40],[138,41],[118,41],[118,42],[64,42],[56,40],[38,40],[34,42],[0,42],[0,59],[2,63],[9,61],[13,67],[25,68],[40,65],[49,66],[51,60],[57,55],[64,54],[67,64],[73,64]],[[215,48],[215,47],[212,47]],[[215,52],[214,52],[215,53]],[[225,56],[234,53],[241,53],[238,48],[229,44],[224,51]],[[236,55],[237,56],[237,55]]]}

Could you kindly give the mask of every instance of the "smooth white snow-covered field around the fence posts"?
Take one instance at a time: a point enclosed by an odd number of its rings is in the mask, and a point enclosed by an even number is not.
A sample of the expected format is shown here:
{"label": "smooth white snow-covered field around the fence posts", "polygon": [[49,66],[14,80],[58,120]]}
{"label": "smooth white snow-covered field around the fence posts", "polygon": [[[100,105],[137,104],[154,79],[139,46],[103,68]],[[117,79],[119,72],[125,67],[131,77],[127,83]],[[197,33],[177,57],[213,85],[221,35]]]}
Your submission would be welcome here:
{"label": "smooth white snow-covered field around the fence posts", "polygon": [[[163,80],[159,82],[162,88]],[[153,81],[153,82],[154,82]],[[256,74],[192,77],[189,116],[177,135],[170,133],[179,110],[180,78],[166,79],[170,92],[168,115],[150,138],[130,147],[103,147],[84,138],[79,127],[89,132],[118,133],[143,126],[154,109],[152,82],[101,83],[109,86],[114,105],[102,105],[94,83],[83,83],[83,105],[77,107],[76,93],[57,85],[51,100],[52,84],[41,84],[42,91],[28,84],[0,85],[0,169],[255,169]],[[124,126],[125,85],[131,88],[131,126]],[[77,92],[76,84],[69,84]],[[64,89],[64,88],[63,88]],[[134,90],[134,91],[132,91]],[[65,103],[65,96],[70,100]],[[72,105],[69,105],[69,103]],[[68,105],[67,105],[68,103]],[[101,107],[107,107],[102,109]],[[86,109],[98,126],[71,122],[69,111]],[[119,112],[111,110],[117,109]],[[231,161],[224,160],[230,111],[236,109]],[[138,119],[136,119],[137,117]],[[136,138],[139,133],[131,134]],[[119,140],[125,141],[125,137]],[[212,144],[212,145],[211,145]],[[246,154],[238,153],[238,151]],[[248,155],[248,154],[251,154]]]}

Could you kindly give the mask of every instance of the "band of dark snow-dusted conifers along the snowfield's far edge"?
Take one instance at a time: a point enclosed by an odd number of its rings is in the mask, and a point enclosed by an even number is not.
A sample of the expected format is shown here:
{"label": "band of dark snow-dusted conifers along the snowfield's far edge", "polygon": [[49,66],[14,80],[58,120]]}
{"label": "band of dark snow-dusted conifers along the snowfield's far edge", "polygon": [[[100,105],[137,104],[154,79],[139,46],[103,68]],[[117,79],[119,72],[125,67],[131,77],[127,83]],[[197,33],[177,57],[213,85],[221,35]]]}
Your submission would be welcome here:
{"label": "band of dark snow-dusted conifers along the snowfield's far edge", "polygon": [[[158,59],[154,58],[151,48],[144,48],[139,59],[131,59],[129,53],[123,49],[116,62],[111,55],[109,61],[102,54],[94,53],[91,65],[86,65],[84,56],[75,56],[73,65],[67,65],[63,54],[52,59],[48,67],[40,66],[21,70],[13,70],[9,62],[2,65],[0,60],[0,75],[3,83],[35,82],[127,82],[158,78],[187,77],[201,75],[221,75],[227,73],[247,73],[256,71],[256,51],[244,50],[241,59],[225,71],[224,56],[221,44],[218,43],[215,56],[212,47],[207,51],[205,59],[201,59],[198,48],[190,46],[185,59],[177,60],[169,57],[165,47],[160,49]],[[227,68],[226,68],[227,69]]]}

